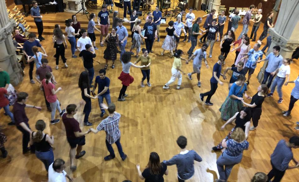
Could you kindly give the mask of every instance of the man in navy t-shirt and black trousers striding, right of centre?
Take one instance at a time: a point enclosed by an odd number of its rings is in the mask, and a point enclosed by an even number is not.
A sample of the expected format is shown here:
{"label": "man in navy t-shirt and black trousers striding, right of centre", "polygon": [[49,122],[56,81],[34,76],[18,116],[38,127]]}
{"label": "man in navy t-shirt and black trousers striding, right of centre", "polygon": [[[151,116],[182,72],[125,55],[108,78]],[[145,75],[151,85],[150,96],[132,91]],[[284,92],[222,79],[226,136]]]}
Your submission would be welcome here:
{"label": "man in navy t-shirt and black trousers striding, right of centre", "polygon": [[[224,56],[223,55],[219,55],[218,56],[218,61],[217,63],[214,65],[213,67],[213,75],[212,78],[210,79],[210,83],[211,83],[211,90],[209,92],[206,93],[201,93],[199,94],[200,99],[203,101],[203,98],[205,96],[208,96],[208,98],[206,98],[206,105],[212,106],[213,103],[210,102],[211,97],[214,95],[214,93],[216,92],[216,89],[218,87],[218,83],[220,85],[223,85],[223,82],[220,81],[219,77],[221,75],[221,65],[224,62]],[[223,76],[223,75],[222,75]]]}

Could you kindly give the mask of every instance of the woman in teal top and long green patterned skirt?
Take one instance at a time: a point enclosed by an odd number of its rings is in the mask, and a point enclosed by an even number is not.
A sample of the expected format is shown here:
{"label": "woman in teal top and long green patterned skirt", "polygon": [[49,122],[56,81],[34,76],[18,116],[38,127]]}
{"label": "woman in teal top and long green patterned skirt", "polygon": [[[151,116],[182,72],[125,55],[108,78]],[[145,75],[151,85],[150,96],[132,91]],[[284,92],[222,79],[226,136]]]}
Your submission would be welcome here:
{"label": "woman in teal top and long green patterned skirt", "polygon": [[221,105],[219,111],[221,112],[221,118],[223,121],[227,121],[233,117],[234,114],[243,107],[243,93],[246,98],[250,98],[247,94],[247,84],[244,82],[246,78],[243,74],[238,76],[237,81],[231,86],[228,96],[225,98],[224,103]]}

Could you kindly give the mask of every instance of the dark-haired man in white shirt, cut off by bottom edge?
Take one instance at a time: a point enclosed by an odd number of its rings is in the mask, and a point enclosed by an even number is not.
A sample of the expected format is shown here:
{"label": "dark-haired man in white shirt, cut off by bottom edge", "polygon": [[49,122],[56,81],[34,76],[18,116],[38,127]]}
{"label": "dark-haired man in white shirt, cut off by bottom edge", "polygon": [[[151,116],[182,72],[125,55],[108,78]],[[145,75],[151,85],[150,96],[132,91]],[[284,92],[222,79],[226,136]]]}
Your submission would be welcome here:
{"label": "dark-haired man in white shirt, cut off by bottom edge", "polygon": [[64,171],[65,168],[64,163],[65,163],[64,160],[56,159],[49,166],[49,170],[48,170],[49,182],[66,182],[65,177],[67,177],[69,181],[73,181],[73,179]]}

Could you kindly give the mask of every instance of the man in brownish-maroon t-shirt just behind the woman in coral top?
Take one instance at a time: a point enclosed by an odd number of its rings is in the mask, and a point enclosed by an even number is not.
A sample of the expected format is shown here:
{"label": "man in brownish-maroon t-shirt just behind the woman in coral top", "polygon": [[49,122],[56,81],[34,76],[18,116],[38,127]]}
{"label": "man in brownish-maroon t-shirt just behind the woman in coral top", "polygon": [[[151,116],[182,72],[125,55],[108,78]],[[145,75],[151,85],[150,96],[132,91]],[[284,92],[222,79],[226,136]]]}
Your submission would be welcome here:
{"label": "man in brownish-maroon t-shirt just behind the woman in coral top", "polygon": [[[38,81],[38,83],[41,84],[41,81],[46,78],[46,73],[47,72],[51,72],[52,73],[52,68],[50,66],[48,66],[49,61],[47,59],[43,58],[40,61],[41,61],[42,65],[38,69],[36,69],[36,72],[35,72],[36,76],[35,76],[35,78]],[[38,78],[38,76],[39,76],[39,78]],[[54,77],[53,74],[52,74],[52,81],[53,81],[54,85],[57,84],[57,82],[55,81],[55,77]],[[44,92],[45,103],[46,103],[47,109],[48,109],[48,111],[52,111],[50,103],[46,99],[44,88],[42,87],[42,89],[43,89],[43,92]]]}

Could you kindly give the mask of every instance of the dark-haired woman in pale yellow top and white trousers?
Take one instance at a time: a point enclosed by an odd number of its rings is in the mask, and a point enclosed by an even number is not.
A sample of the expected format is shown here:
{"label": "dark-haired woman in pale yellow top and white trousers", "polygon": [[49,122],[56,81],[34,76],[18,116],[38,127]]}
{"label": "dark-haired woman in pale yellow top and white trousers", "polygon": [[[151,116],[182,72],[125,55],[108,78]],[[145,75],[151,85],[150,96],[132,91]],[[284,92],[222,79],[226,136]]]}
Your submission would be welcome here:
{"label": "dark-haired woman in pale yellow top and white trousers", "polygon": [[[177,50],[174,53],[174,61],[173,61],[173,65],[171,68],[171,78],[170,80],[163,86],[163,89],[169,89],[169,85],[172,84],[176,78],[178,78],[178,86],[177,89],[181,88],[181,84],[182,84],[182,74],[180,71],[182,71],[182,73],[185,75],[186,73],[183,72],[182,70],[182,62],[181,59],[186,60],[184,58],[181,58],[181,56],[183,55],[183,51],[182,50]],[[187,60],[186,60],[187,61]]]}

